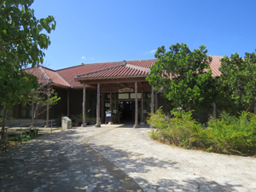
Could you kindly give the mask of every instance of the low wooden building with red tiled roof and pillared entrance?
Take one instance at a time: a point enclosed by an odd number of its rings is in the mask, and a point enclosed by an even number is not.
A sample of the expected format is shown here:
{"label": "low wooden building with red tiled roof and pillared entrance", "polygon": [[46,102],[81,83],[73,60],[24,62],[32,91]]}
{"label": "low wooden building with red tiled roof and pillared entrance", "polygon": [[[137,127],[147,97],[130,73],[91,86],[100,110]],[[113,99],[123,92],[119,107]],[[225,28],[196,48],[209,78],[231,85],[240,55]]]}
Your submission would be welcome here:
{"label": "low wooden building with red tiled roof and pillared entrance", "polygon": [[[210,67],[213,76],[219,76],[220,56],[212,56]],[[144,124],[148,113],[163,106],[172,109],[160,93],[148,84],[146,77],[157,59],[137,61],[113,61],[82,64],[74,67],[52,70],[47,67],[26,69],[38,77],[40,83],[48,82],[61,97],[61,101],[49,109],[49,119],[79,115],[80,123],[96,124],[107,122],[106,111],[111,111],[113,123],[130,123],[138,127]],[[84,105],[83,105],[84,103]],[[151,104],[153,103],[153,104]],[[83,108],[84,106],[84,108]],[[26,106],[15,106],[12,111],[19,123],[31,118]],[[39,119],[46,119],[47,113]],[[23,120],[23,121],[22,121]]]}

